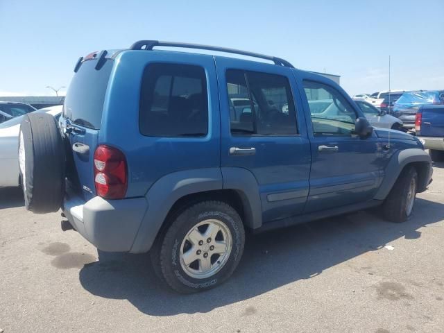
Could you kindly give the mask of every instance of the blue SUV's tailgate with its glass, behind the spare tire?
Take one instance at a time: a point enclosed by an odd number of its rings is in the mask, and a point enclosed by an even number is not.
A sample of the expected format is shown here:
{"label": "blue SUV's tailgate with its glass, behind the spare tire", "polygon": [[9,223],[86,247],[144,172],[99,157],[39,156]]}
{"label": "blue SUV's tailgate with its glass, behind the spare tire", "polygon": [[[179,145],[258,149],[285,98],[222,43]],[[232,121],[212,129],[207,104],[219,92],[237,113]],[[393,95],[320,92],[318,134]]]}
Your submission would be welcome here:
{"label": "blue SUV's tailgate with its glass, behind the spare tire", "polygon": [[[67,178],[80,196],[89,200],[94,186],[94,151],[102,123],[103,103],[113,60],[96,69],[98,60],[86,60],[71,80],[60,127],[67,132]],[[75,151],[73,151],[73,149]]]}

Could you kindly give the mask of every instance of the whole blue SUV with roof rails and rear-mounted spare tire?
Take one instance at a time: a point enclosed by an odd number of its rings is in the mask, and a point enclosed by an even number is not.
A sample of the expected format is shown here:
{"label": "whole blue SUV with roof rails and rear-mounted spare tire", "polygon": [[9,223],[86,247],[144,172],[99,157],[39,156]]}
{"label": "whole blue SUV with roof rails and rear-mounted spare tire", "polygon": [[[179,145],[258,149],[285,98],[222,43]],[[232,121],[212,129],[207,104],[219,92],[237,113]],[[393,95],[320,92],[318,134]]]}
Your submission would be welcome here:
{"label": "whole blue SUV with roof rails and rear-mounted spare tire", "polygon": [[416,137],[373,129],[339,85],[280,58],[144,40],[74,71],[59,122],[22,122],[26,207],[61,207],[62,228],[100,250],[149,251],[182,293],[227,280],[245,230],[377,205],[402,222],[431,180]]}

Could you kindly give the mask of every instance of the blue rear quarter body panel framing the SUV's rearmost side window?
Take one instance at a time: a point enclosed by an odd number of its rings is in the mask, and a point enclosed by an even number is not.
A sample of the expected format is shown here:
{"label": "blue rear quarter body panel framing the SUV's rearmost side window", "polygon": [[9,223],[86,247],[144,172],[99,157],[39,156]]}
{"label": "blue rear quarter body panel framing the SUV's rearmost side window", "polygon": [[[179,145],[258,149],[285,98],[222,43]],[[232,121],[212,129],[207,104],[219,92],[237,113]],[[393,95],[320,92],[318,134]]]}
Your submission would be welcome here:
{"label": "blue rear quarter body panel framing the SUV's rearmost side window", "polygon": [[[153,183],[169,173],[220,167],[220,118],[216,69],[212,56],[169,51],[123,51],[115,62],[105,95],[98,144],[119,148],[128,163],[126,196],[144,196]],[[151,62],[204,67],[209,110],[205,137],[148,137],[139,132],[142,76]]]}

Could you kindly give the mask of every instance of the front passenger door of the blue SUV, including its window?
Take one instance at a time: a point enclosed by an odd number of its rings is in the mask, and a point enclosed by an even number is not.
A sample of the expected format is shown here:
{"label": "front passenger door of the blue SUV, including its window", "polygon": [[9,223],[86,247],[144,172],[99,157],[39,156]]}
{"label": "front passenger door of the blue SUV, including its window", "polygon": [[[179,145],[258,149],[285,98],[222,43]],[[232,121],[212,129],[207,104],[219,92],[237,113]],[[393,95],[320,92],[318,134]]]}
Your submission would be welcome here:
{"label": "front passenger door of the blue SUV, including its window", "polygon": [[310,191],[305,212],[373,198],[382,181],[386,155],[377,135],[354,134],[361,112],[330,81],[302,80],[311,142]]}

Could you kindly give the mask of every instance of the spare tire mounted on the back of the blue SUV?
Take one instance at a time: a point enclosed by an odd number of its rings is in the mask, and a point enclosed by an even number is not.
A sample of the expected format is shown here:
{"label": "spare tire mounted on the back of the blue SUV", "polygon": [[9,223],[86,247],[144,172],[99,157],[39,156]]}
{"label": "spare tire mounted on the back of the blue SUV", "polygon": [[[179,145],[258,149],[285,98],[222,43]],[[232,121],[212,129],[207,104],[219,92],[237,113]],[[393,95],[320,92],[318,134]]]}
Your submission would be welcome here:
{"label": "spare tire mounted on the back of the blue SUV", "polygon": [[27,210],[57,212],[65,193],[65,149],[56,118],[24,116],[19,132],[20,181]]}

